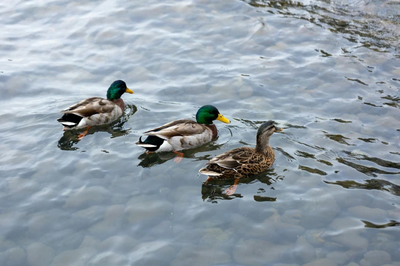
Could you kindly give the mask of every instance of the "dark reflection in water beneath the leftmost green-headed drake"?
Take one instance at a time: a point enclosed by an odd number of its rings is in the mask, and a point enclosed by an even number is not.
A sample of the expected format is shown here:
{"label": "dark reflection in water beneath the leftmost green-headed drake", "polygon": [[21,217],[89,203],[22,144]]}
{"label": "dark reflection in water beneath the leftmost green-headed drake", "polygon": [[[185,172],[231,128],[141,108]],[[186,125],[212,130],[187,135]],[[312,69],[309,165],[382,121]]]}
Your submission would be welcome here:
{"label": "dark reflection in water beneath the leftmost green-headed drake", "polygon": [[[110,124],[90,127],[85,135],[92,135],[96,132],[108,132],[109,134],[111,134],[111,139],[128,135],[130,129],[124,129],[124,124],[134,113],[136,113],[137,108],[133,104],[126,104],[125,111],[125,116],[120,117]],[[61,139],[58,141],[57,146],[61,150],[77,150],[79,148],[74,147],[74,144],[77,144],[80,140],[81,139],[79,138],[75,130],[66,130],[64,131]]]}

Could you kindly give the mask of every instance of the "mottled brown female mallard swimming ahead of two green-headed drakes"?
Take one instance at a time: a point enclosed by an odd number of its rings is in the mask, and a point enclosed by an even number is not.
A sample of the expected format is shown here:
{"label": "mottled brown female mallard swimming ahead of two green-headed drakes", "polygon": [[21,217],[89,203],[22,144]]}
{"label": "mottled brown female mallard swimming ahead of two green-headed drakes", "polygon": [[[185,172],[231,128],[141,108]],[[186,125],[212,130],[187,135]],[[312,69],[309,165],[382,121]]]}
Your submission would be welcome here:
{"label": "mottled brown female mallard swimming ahead of two green-headed drakes", "polygon": [[206,182],[212,179],[235,178],[234,185],[225,193],[232,195],[236,191],[240,178],[261,173],[271,167],[275,153],[269,145],[269,138],[276,131],[282,131],[271,122],[263,123],[257,130],[257,143],[254,148],[236,148],[210,159],[206,166],[199,170],[208,175]]}

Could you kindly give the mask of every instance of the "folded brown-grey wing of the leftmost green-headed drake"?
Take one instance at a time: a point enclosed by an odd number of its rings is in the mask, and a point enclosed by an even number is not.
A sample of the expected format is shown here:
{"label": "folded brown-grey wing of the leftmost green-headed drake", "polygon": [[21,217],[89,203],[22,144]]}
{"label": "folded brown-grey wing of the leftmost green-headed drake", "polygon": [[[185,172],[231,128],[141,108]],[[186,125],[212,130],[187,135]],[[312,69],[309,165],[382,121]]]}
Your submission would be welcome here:
{"label": "folded brown-grey wing of the leftmost green-headed drake", "polygon": [[61,111],[62,114],[74,114],[81,117],[89,117],[96,114],[111,113],[115,103],[100,97],[91,97],[84,99],[77,104],[71,105]]}

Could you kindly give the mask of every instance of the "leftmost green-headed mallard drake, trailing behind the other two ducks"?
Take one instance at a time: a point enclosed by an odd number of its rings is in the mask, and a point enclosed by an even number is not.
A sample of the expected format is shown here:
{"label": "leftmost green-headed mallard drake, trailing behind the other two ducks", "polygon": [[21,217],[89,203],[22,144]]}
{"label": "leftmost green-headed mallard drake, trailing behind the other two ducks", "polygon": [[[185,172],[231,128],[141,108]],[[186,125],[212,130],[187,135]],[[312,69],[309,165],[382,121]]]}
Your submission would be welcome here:
{"label": "leftmost green-headed mallard drake, trailing behind the other two ducks", "polygon": [[100,97],[84,99],[61,111],[64,115],[57,121],[64,125],[64,130],[86,127],[86,130],[78,136],[82,139],[90,126],[111,123],[124,113],[125,103],[121,96],[125,92],[133,93],[126,87],[125,82],[114,81],[107,90],[107,99]]}

